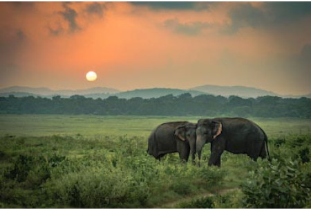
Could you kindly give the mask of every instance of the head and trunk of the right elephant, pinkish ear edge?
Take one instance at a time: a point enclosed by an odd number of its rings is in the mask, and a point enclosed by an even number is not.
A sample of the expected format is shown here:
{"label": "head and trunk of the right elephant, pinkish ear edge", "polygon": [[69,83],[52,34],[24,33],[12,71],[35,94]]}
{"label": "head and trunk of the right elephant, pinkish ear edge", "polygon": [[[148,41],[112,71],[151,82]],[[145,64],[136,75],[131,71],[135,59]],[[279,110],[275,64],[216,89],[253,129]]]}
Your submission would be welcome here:
{"label": "head and trunk of the right elephant, pinkish ear edge", "polygon": [[202,148],[205,143],[211,142],[218,137],[223,130],[223,125],[211,119],[200,119],[196,128],[196,152],[201,159]]}

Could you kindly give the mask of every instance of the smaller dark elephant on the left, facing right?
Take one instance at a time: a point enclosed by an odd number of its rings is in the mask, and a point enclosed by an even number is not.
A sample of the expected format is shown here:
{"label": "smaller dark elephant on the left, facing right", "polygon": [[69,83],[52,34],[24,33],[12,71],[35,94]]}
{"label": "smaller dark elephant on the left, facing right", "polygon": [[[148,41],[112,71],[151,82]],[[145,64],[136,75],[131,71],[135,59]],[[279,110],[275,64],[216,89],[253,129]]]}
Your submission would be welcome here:
{"label": "smaller dark elephant on the left, facing right", "polygon": [[178,121],[163,123],[153,130],[148,139],[147,152],[159,160],[168,153],[178,152],[182,161],[188,161],[191,152],[194,161],[195,149],[196,123]]}

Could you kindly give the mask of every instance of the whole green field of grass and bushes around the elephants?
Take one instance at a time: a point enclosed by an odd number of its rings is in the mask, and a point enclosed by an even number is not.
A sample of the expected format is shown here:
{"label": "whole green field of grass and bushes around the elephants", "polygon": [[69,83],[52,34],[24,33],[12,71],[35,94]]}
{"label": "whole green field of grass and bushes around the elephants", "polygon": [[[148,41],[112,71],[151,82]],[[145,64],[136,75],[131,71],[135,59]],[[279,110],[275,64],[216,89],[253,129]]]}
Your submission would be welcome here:
{"label": "whole green field of grass and bushes around the elephants", "polygon": [[310,119],[251,119],[271,162],[224,152],[221,168],[208,167],[209,144],[200,168],[147,155],[157,125],[200,118],[0,115],[0,207],[311,207]]}

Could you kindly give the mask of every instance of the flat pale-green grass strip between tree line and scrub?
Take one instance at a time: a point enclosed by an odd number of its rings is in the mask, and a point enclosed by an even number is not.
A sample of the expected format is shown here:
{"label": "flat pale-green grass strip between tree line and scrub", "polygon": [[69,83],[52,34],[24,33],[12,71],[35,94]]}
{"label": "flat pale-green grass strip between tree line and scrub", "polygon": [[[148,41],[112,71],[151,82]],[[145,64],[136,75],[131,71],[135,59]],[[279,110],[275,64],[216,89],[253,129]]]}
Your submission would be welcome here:
{"label": "flat pale-green grass strip between tree line and scrub", "polygon": [[[147,136],[160,123],[168,121],[196,122],[207,116],[93,116],[1,114],[0,136],[39,137],[53,134],[100,137],[102,135]],[[311,133],[310,119],[250,119],[265,130],[268,137]]]}

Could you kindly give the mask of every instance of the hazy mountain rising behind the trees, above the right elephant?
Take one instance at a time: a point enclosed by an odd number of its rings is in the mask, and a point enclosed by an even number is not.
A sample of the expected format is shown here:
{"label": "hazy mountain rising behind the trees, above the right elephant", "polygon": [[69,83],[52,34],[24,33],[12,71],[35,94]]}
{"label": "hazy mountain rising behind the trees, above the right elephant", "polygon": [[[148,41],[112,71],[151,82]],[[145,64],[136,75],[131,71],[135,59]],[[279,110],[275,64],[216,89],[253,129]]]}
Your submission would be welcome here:
{"label": "hazy mountain rising behind the trees, above the right elephant", "polygon": [[242,98],[256,98],[258,96],[280,96],[272,91],[264,89],[257,89],[254,87],[243,86],[217,86],[217,85],[203,85],[193,87],[191,90],[201,91],[207,94],[220,96],[240,96]]}

